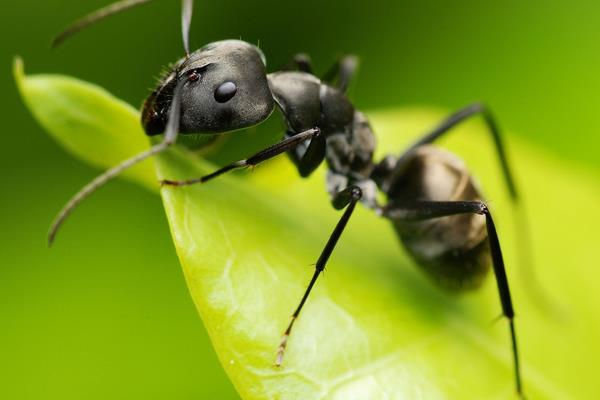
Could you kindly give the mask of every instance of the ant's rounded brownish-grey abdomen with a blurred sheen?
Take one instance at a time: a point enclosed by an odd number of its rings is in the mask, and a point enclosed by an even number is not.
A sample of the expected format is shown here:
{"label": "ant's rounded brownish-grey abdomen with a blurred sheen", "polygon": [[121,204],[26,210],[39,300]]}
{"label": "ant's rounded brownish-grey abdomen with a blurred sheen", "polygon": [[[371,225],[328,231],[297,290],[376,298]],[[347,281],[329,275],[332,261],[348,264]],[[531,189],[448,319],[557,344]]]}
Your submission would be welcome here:
{"label": "ant's rounded brownish-grey abdomen with a blurred sheen", "polygon": [[[464,162],[434,146],[421,146],[404,161],[390,187],[390,203],[411,207],[418,202],[482,201]],[[485,217],[458,214],[435,219],[392,218],[407,251],[439,286],[475,289],[491,261]]]}

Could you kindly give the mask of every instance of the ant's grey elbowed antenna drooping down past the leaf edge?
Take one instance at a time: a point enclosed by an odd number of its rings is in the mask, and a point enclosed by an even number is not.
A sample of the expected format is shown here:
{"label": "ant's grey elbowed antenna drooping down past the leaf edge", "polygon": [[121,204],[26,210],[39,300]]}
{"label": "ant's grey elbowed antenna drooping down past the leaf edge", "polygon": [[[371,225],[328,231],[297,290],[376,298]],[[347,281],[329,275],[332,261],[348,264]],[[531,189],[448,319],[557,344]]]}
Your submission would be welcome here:
{"label": "ant's grey elbowed antenna drooping down past the leaf edge", "polygon": [[88,196],[102,187],[106,182],[119,175],[129,167],[145,160],[148,157],[163,152],[177,140],[177,132],[179,130],[179,117],[181,113],[181,88],[185,81],[181,81],[176,87],[173,95],[171,110],[169,111],[169,120],[164,133],[163,141],[152,146],[150,149],[143,151],[116,166],[106,170],[103,174],[97,176],[93,181],[81,188],[60,210],[48,232],[48,246],[54,242],[59,228],[65,222],[67,217],[73,210],[81,204]]}

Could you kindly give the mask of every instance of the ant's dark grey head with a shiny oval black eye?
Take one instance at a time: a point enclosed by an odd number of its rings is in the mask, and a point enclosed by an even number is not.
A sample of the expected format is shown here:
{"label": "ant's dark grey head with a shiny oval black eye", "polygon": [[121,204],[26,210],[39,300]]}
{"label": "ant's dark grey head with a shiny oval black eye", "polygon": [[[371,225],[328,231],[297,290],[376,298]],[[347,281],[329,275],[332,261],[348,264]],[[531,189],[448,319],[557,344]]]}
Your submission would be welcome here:
{"label": "ant's dark grey head with a shiny oval black eye", "polygon": [[[179,85],[182,80],[185,83]],[[146,134],[164,132],[177,86],[181,88],[181,133],[246,128],[267,119],[274,108],[263,53],[239,40],[208,44],[178,62],[144,103]]]}

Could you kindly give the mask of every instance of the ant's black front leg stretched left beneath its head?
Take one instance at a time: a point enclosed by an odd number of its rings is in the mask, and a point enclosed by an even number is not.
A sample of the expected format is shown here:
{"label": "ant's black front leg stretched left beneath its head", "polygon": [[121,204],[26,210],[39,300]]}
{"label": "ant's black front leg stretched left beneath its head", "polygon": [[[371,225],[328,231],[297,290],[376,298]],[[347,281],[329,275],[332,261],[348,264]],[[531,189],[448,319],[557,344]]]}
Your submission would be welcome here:
{"label": "ant's black front leg stretched left beneath its head", "polygon": [[259,151],[258,153],[245,158],[243,160],[235,161],[229,165],[226,165],[215,172],[201,176],[199,178],[187,179],[183,181],[174,181],[174,180],[163,180],[161,181],[161,185],[169,185],[169,186],[187,186],[193,185],[195,183],[204,183],[208,180],[216,178],[219,175],[222,175],[226,172],[232,171],[234,169],[253,167],[255,165],[260,164],[263,161],[271,159],[275,156],[278,156],[281,153],[285,153],[286,151],[294,149],[300,143],[312,138],[318,138],[321,136],[321,130],[319,128],[308,129],[304,132],[300,132],[294,136],[290,136],[279,143],[276,143],[272,146],[267,147],[264,150]]}

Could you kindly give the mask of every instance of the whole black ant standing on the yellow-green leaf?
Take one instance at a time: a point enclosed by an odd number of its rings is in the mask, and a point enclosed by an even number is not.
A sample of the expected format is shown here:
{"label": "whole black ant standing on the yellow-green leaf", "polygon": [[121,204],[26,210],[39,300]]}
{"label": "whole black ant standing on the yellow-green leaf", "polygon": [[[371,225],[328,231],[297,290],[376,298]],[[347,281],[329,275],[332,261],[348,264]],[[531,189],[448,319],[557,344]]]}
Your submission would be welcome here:
{"label": "whole black ant standing on the yellow-green leaf", "polygon": [[[149,1],[125,0],[98,10],[67,28],[57,36],[54,45],[100,19]],[[361,202],[394,224],[411,256],[443,288],[466,290],[480,286],[491,259],[502,312],[509,323],[516,391],[522,397],[515,313],[492,214],[462,161],[432,146],[457,124],[481,115],[493,138],[510,195],[516,201],[517,190],[500,132],[489,109],[479,103],[465,107],[400,156],[390,155],[376,163],[373,161],[375,137],[369,121],[345,95],[357,67],[355,57],[341,58],[322,79],[312,73],[310,59],[304,55],[294,57],[295,70],[267,74],[262,51],[240,40],[210,43],[190,53],[191,16],[192,0],[183,0],[182,33],[186,55],[161,80],[142,109],[146,134],[164,134],[162,142],[107,170],[83,187],[58,214],[50,229],[49,243],[81,201],[126,168],[166,150],[175,143],[178,134],[231,132],[259,124],[278,109],[287,125],[279,143],[206,176],[161,182],[173,187],[204,183],[282,153],[288,153],[302,177],[311,175],[323,161],[327,163],[331,203],[336,210],[344,209],[344,213],[319,256],[314,275],[285,329],[276,365],[281,365],[294,322],[356,204]],[[387,204],[379,204],[378,191],[385,194]]]}

